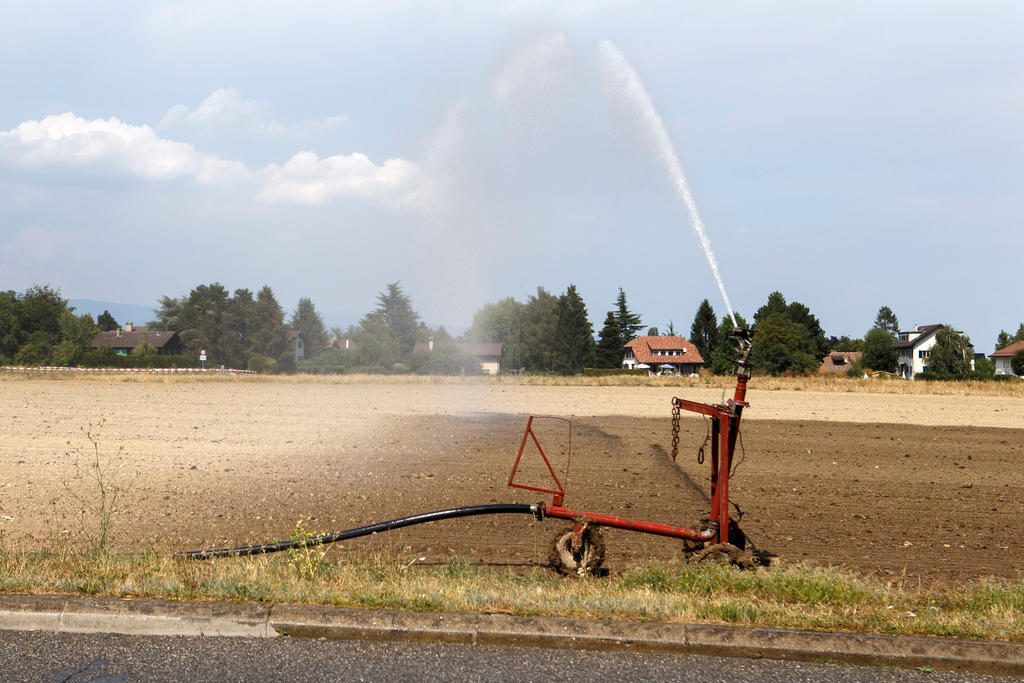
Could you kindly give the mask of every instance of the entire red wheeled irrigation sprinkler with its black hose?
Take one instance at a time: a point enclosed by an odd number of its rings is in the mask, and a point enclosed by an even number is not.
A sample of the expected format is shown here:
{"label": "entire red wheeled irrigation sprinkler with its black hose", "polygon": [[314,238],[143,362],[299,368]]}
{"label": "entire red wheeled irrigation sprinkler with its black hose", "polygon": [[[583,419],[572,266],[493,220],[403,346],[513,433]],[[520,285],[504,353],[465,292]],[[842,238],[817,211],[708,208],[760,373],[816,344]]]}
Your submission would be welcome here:
{"label": "entire red wheeled irrigation sprinkler with its black hose", "polygon": [[[743,556],[745,537],[739,529],[736,520],[729,516],[729,475],[733,467],[733,454],[736,438],[739,434],[739,419],[746,402],[746,383],[751,377],[751,339],[749,330],[735,329],[732,336],[738,347],[738,358],[735,366],[736,387],[732,398],[723,403],[700,403],[684,398],[672,399],[672,441],[673,458],[675,458],[679,442],[679,416],[682,411],[697,413],[711,419],[711,509],[699,528],[672,526],[658,522],[643,521],[615,517],[598,512],[573,510],[564,505],[565,482],[572,453],[572,424],[565,418],[553,416],[530,416],[526,421],[519,450],[516,453],[512,472],[509,474],[508,485],[513,488],[550,495],[551,503],[520,504],[498,503],[490,505],[474,505],[434,512],[425,512],[389,521],[377,522],[366,526],[345,529],[333,533],[324,533],[304,539],[279,541],[236,548],[218,548],[212,550],[193,550],[179,553],[186,559],[209,559],[213,557],[233,557],[242,555],[259,555],[280,552],[292,548],[317,546],[355,539],[371,533],[389,531],[414,524],[471,517],[488,514],[529,514],[538,520],[562,519],[572,522],[572,526],[560,530],[552,543],[549,559],[552,566],[564,574],[588,574],[596,572],[604,560],[604,542],[600,528],[608,526],[641,533],[670,537],[683,541],[683,552],[693,560],[722,560],[737,564],[745,564]],[[538,421],[557,420],[566,423],[568,429],[568,444],[566,450],[565,468],[559,473],[555,471],[548,455],[541,445],[541,440],[534,427]],[[527,443],[532,443],[540,454],[552,484],[548,486],[526,484],[516,481],[516,473],[522,463]]]}

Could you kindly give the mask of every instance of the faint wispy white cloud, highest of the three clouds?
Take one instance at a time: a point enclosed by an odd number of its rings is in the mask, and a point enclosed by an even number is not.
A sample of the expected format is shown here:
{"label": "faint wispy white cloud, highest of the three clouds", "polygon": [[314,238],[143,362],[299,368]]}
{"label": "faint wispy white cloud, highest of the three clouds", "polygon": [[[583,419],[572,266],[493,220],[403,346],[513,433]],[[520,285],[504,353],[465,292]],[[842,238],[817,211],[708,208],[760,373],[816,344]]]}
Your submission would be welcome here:
{"label": "faint wispy white cloud, highest of the three clouds", "polygon": [[349,125],[348,117],[333,116],[321,120],[303,120],[284,124],[268,118],[270,106],[256,99],[246,98],[236,88],[218,88],[200,102],[195,110],[175,104],[167,110],[158,128],[166,130],[189,129],[212,133],[230,131],[247,132],[258,137],[294,138],[311,137],[340,130]]}

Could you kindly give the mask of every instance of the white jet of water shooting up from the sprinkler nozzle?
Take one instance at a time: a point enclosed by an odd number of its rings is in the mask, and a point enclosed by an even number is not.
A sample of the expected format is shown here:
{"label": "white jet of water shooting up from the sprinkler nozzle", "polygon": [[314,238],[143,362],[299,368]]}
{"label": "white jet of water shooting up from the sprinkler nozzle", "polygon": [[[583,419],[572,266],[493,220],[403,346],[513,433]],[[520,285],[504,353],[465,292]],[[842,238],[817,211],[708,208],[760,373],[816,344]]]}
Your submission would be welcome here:
{"label": "white jet of water shooting up from the sprinkler nozzle", "polygon": [[632,105],[644,130],[650,137],[650,141],[659,160],[665,165],[666,170],[668,170],[669,176],[676,187],[676,193],[690,215],[690,223],[693,225],[693,231],[696,232],[697,239],[700,241],[700,246],[703,248],[708,264],[711,266],[712,273],[715,275],[715,282],[718,283],[718,289],[722,293],[722,299],[725,301],[725,307],[729,310],[729,317],[732,318],[732,326],[738,327],[736,325],[736,314],[733,312],[732,304],[729,302],[729,295],[725,292],[725,283],[722,281],[722,273],[718,269],[718,260],[715,258],[715,252],[711,248],[711,240],[708,239],[708,232],[705,230],[703,220],[700,218],[700,212],[697,211],[697,204],[693,200],[689,183],[686,182],[686,175],[683,173],[683,166],[679,161],[679,155],[676,154],[676,148],[672,144],[672,139],[669,137],[669,132],[665,128],[665,123],[662,121],[657,109],[654,106],[654,101],[650,98],[647,88],[644,87],[640,75],[637,74],[636,70],[633,69],[633,65],[630,63],[626,55],[623,54],[622,50],[614,43],[610,40],[602,40],[598,44],[598,54],[604,74],[611,80],[612,91],[625,97]]}

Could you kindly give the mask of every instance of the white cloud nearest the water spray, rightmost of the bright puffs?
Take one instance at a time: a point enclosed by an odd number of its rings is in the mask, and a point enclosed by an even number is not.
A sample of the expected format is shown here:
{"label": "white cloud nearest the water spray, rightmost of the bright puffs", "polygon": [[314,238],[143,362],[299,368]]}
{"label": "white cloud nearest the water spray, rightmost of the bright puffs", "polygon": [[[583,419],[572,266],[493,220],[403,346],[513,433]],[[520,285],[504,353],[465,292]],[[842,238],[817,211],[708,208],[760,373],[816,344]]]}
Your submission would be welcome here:
{"label": "white cloud nearest the water spray, rightmost of the bright puffs", "polygon": [[359,153],[321,159],[312,152],[300,152],[283,166],[270,164],[263,174],[259,198],[271,203],[318,206],[337,199],[367,199],[395,207],[430,204],[423,172],[404,159],[377,165]]}

